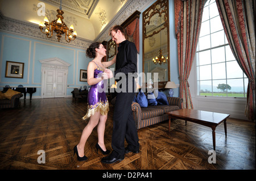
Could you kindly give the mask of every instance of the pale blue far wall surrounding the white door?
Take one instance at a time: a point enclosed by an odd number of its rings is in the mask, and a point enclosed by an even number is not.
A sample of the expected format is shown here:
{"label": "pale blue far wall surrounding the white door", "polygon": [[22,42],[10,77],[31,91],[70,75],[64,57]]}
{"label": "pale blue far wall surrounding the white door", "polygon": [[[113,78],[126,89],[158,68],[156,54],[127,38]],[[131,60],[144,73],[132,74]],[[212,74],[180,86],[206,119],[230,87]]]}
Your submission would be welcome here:
{"label": "pale blue far wall surrounding the white door", "polygon": [[[36,87],[33,96],[41,96],[42,64],[39,60],[54,57],[71,64],[68,68],[67,95],[72,95],[71,91],[74,87],[88,86],[87,82],[80,82],[80,69],[86,70],[91,60],[85,56],[85,49],[0,32],[0,50],[0,90],[5,85],[11,87],[23,85]],[[6,61],[24,62],[23,78],[6,78]]]}

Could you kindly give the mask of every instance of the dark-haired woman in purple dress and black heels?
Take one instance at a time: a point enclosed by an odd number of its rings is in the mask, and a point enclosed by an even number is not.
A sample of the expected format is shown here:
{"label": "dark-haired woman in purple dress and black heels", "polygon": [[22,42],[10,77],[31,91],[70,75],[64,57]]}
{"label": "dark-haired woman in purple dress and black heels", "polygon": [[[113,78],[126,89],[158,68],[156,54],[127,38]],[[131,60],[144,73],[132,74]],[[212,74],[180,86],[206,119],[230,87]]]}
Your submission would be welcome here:
{"label": "dark-haired woman in purple dress and black heels", "polygon": [[98,151],[100,149],[103,154],[110,152],[104,144],[105,123],[109,111],[109,102],[104,92],[104,80],[113,77],[112,71],[106,69],[106,67],[113,65],[116,58],[114,57],[112,61],[101,62],[102,58],[106,56],[106,49],[101,43],[97,42],[92,43],[86,50],[86,56],[94,59],[89,62],[87,68],[87,82],[90,86],[88,92],[88,110],[86,115],[82,117],[84,120],[89,119],[89,122],[82,131],[79,144],[74,147],[74,155],[76,153],[79,161],[85,161],[87,159],[84,155],[85,143],[96,125],[98,125],[96,150]]}

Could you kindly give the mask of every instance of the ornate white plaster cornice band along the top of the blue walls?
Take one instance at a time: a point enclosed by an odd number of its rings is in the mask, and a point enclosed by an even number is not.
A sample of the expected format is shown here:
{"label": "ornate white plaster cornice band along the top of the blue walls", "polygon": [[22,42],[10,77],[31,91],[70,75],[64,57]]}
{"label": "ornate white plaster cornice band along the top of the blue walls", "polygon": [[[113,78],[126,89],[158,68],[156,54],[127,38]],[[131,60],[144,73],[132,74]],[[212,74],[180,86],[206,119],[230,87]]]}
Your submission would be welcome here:
{"label": "ornate white plaster cornice band along the top of the blue walls", "polygon": [[[128,0],[125,5],[118,11],[114,18],[108,23],[108,25],[101,31],[101,33],[96,37],[94,41],[102,42],[108,41],[109,37],[109,28],[115,24],[122,24],[134,11],[144,11],[148,6],[154,3],[156,0]],[[20,35],[24,37],[31,37],[33,39],[44,40],[49,42],[54,42],[56,44],[64,44],[70,47],[86,49],[89,47],[93,41],[82,39],[77,37],[75,41],[67,43],[64,39],[61,39],[60,42],[57,41],[57,38],[52,37],[48,39],[46,35],[39,31],[39,28],[36,24],[25,22],[13,18],[8,18],[3,16],[0,11],[0,31],[6,33],[13,33],[15,35]]]}

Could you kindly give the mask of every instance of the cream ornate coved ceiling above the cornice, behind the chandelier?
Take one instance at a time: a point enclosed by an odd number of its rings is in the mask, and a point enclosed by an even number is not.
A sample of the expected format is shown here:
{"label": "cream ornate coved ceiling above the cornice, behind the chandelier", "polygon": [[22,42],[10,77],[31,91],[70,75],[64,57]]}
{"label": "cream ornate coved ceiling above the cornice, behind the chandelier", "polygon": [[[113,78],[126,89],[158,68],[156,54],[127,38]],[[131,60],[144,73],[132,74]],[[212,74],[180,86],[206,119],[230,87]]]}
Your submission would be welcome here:
{"label": "cream ornate coved ceiling above the cornice, behind the chandelier", "polygon": [[[93,41],[127,1],[132,0],[62,0],[63,21],[73,24],[77,37]],[[60,0],[0,0],[2,16],[35,24],[43,22],[43,11],[50,22],[57,19],[59,8]]]}

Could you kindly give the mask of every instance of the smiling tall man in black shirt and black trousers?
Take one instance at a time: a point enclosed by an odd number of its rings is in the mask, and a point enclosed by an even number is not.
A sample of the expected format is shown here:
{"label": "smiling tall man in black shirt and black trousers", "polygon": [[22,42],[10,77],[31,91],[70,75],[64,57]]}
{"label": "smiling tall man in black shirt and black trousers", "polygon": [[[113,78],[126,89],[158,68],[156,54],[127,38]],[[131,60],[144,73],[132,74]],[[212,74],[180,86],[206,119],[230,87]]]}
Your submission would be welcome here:
{"label": "smiling tall man in black shirt and black trousers", "polygon": [[[125,39],[125,33],[121,26],[110,29],[109,35],[119,45],[117,61],[115,63],[114,77],[119,79],[115,99],[113,115],[113,151],[108,157],[101,159],[102,163],[114,163],[122,161],[125,153],[139,153],[139,138],[131,104],[135,96],[136,83],[134,73],[137,74],[137,48],[135,44]],[[128,146],[125,148],[125,139]]]}

